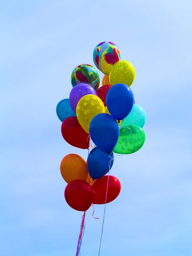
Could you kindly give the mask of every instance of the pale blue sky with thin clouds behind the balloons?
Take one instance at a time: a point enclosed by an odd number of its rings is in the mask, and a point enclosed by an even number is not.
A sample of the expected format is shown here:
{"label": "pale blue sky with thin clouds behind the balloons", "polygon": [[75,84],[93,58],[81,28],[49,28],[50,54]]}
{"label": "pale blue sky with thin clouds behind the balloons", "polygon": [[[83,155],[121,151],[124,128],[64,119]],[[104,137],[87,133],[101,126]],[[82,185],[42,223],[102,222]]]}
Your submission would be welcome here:
{"label": "pale blue sky with thin clouds behind the balloons", "polygon": [[[100,256],[192,255],[192,2],[0,0],[0,254],[74,256],[81,212],[64,200],[55,108],[77,65],[114,42],[147,113],[140,151],[115,156]],[[101,74],[101,73],[100,73]],[[101,74],[102,79],[102,74]],[[82,256],[97,256],[104,205],[87,212]]]}

